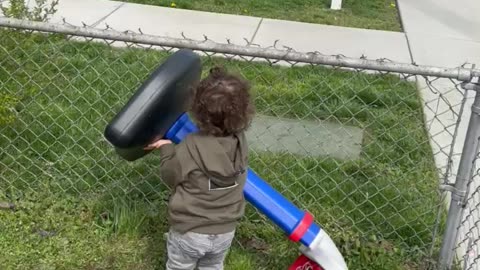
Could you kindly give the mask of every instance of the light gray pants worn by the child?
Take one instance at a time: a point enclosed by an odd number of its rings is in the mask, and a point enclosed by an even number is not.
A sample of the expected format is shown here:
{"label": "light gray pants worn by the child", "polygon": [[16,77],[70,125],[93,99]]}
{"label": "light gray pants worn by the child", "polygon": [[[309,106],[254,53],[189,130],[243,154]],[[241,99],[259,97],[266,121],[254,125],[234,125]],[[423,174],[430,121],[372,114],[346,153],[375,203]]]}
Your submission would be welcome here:
{"label": "light gray pants worn by the child", "polygon": [[167,237],[166,270],[223,270],[235,231],[226,234],[180,234],[170,230]]}

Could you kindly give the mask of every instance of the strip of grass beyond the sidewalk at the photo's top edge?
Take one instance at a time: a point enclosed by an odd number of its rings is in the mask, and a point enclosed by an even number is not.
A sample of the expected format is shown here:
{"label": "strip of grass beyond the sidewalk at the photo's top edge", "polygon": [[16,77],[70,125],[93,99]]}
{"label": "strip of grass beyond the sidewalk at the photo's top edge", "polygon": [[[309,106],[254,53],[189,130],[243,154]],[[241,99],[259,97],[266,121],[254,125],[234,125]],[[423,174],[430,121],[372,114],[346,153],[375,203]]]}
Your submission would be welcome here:
{"label": "strip of grass beyond the sidewalk at the photo's top edge", "polygon": [[147,5],[401,31],[395,0],[344,0],[342,10],[331,10],[330,0],[122,0]]}

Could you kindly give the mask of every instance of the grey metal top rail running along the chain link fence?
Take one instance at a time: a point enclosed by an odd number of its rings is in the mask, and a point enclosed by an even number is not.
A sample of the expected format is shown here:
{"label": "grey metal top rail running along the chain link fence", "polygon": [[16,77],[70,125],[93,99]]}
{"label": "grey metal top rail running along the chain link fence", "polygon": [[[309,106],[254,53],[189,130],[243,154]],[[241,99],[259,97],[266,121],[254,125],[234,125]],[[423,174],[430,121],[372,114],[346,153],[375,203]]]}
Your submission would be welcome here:
{"label": "grey metal top rail running along the chain link fence", "polygon": [[[135,32],[106,31],[97,28],[78,27],[73,25],[55,25],[42,22],[25,21],[12,18],[0,18],[0,25],[16,29],[27,29],[43,32],[62,33],[81,37],[98,38],[112,41],[123,41],[129,43],[156,45],[172,48],[186,48],[206,52],[229,54],[237,56],[259,57],[271,60],[284,60],[298,63],[310,63],[331,65],[336,67],[361,68],[379,70],[385,72],[408,73],[423,76],[434,76],[470,81],[480,76],[480,69],[467,68],[441,68],[433,66],[417,66],[413,64],[396,63],[388,60],[368,60],[344,57],[342,55],[322,55],[320,52],[296,52],[290,50],[279,50],[272,44],[271,48],[260,48],[257,46],[241,46],[235,44],[222,44],[216,42],[199,42],[191,39],[176,39],[159,37]],[[206,39],[205,41],[208,41]]]}

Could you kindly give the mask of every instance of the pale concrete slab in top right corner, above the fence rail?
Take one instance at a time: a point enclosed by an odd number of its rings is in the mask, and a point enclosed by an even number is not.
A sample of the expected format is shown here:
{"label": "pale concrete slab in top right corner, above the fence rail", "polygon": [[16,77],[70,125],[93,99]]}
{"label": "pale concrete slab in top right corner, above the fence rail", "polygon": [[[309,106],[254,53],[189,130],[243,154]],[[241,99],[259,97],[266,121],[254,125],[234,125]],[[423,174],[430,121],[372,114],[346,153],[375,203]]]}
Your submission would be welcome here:
{"label": "pale concrete slab in top right corner, above the fence rail", "polygon": [[480,2],[398,0],[403,27],[417,64],[480,63]]}

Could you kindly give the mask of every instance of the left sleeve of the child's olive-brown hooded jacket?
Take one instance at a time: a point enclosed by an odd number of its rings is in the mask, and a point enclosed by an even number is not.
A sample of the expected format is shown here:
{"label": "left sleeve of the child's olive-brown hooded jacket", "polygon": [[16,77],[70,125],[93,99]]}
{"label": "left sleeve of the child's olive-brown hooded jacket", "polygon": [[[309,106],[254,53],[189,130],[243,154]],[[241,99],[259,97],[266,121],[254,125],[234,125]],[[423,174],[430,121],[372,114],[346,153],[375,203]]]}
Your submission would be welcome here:
{"label": "left sleeve of the child's olive-brown hooded jacket", "polygon": [[170,188],[182,182],[182,168],[174,144],[160,147],[160,175]]}

